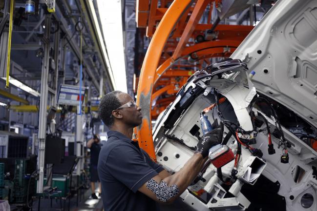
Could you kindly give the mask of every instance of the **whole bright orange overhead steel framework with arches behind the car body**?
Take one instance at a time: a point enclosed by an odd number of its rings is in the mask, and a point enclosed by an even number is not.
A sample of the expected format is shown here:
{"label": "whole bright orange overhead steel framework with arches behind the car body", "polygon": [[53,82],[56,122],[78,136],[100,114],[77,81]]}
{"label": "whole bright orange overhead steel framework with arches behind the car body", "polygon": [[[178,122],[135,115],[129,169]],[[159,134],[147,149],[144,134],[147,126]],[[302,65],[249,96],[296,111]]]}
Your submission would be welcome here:
{"label": "whole bright orange overhead steel framework with arches behind the car body", "polygon": [[[142,107],[142,125],[134,138],[154,160],[151,120],[175,99],[178,90],[211,58],[228,58],[254,28],[211,23],[213,5],[222,0],[137,0],[136,22],[150,39],[138,78],[137,105]],[[208,7],[209,5],[209,7]],[[198,23],[209,8],[207,23]],[[198,37],[203,40],[197,41]],[[155,104],[152,105],[152,100]]]}

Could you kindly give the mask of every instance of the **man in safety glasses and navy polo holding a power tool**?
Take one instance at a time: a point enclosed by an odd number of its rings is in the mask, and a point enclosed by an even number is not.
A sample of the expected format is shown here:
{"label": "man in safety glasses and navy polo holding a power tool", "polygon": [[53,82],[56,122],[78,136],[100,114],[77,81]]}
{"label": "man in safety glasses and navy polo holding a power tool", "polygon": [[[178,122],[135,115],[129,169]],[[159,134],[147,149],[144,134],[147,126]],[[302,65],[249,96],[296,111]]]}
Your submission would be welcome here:
{"label": "man in safety glasses and navy polo holding a power tool", "polygon": [[131,140],[133,128],[142,123],[141,107],[131,96],[120,91],[106,94],[100,102],[99,115],[110,129],[98,162],[105,211],[155,211],[155,202],[172,202],[196,178],[209,149],[222,136],[219,128],[202,136],[196,152],[180,171],[171,175]]}

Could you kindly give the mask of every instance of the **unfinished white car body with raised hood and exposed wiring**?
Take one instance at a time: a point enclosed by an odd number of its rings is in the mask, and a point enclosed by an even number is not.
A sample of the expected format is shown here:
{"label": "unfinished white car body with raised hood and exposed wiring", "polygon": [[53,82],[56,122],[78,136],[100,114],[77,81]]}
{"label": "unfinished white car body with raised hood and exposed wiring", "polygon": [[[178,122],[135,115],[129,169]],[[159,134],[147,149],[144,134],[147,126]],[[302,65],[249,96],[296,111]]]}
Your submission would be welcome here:
{"label": "unfinished white car body with raised hood and exposed wiring", "polygon": [[[236,118],[239,125],[246,131],[253,129],[249,115],[250,102],[257,97],[257,94],[260,94],[275,101],[276,105],[280,105],[279,108],[293,111],[292,119],[298,117],[303,125],[309,125],[311,134],[306,134],[307,137],[317,134],[317,0],[277,1],[234,51],[231,58],[242,60],[247,64],[249,71],[246,73],[237,69],[234,70],[234,73],[237,73],[234,77],[223,74],[223,78],[215,80],[211,77],[195,82],[189,79],[175,101],[156,121],[153,140],[157,161],[169,172],[179,171],[194,153],[189,147],[196,146],[198,140],[190,131],[195,128],[202,134],[199,112],[213,103],[208,98],[209,95],[203,94],[212,92],[211,88],[227,98],[226,103],[221,105],[222,107],[219,106],[223,109],[222,113],[228,114],[228,118]],[[255,71],[252,80],[248,77],[250,71]],[[197,96],[193,94],[190,105],[184,106],[178,117],[173,116],[177,110],[181,109],[180,104],[187,97],[186,93],[190,91],[193,93],[192,90],[197,87],[200,90],[197,93],[200,94]],[[225,105],[229,109],[225,108]],[[253,111],[255,114],[261,113],[265,116],[272,133],[275,130],[275,118],[258,109]],[[217,117],[217,112],[212,110],[207,113],[210,120],[212,120],[212,113]],[[284,118],[282,113],[279,113],[278,117]],[[294,122],[297,121],[296,119]],[[251,183],[245,180],[246,170],[252,166],[255,159],[259,162],[256,166],[257,173],[264,176],[261,179],[268,179],[272,182],[270,185],[276,188],[272,198],[262,198],[264,207],[271,206],[272,211],[317,211],[317,152],[303,141],[306,132],[301,126],[287,125],[284,127],[282,124],[282,130],[285,139],[291,145],[288,148],[288,163],[280,162],[283,150],[282,147],[277,148],[280,143],[279,138],[272,136],[276,153],[268,154],[268,133],[265,130],[265,124],[262,124],[258,128],[260,131],[256,134],[256,143],[252,146],[261,149],[263,157],[257,158],[242,147],[242,158],[237,168],[239,182],[229,186],[230,191],[221,187],[223,183],[217,178],[217,170],[210,165],[202,175],[204,181],[199,180],[181,194],[183,201],[197,211],[246,210],[252,206],[254,208],[255,205],[252,204],[250,197],[241,193],[239,186],[243,189],[245,184],[248,184],[248,187],[255,187],[250,192],[254,195],[259,194],[256,192],[256,187],[258,185],[261,187],[260,183],[265,180],[256,182],[255,179]],[[226,129],[225,134],[228,134]],[[182,143],[173,140],[173,137],[177,137]],[[301,139],[302,137],[304,139]],[[227,145],[233,153],[236,153],[237,142],[234,138],[231,138]],[[222,167],[225,178],[230,178],[232,168],[233,161]],[[265,184],[262,185],[265,186]],[[208,198],[206,193],[200,198],[193,193],[203,189],[210,192]],[[228,192],[231,193],[230,197],[225,196]],[[263,195],[259,194],[258,197],[260,196]],[[281,209],[275,205],[275,200],[279,206],[285,207]]]}

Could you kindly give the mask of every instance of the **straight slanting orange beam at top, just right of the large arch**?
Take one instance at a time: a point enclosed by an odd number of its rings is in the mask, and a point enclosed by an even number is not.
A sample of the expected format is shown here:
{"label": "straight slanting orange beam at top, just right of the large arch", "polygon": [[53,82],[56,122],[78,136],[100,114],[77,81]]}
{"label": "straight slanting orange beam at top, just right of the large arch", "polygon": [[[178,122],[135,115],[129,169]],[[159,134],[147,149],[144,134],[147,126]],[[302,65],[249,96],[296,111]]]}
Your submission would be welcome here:
{"label": "straight slanting orange beam at top, just right of the large arch", "polygon": [[192,32],[195,30],[195,27],[201,18],[201,16],[204,13],[204,10],[206,9],[208,3],[210,0],[197,0],[196,5],[194,7],[194,10],[191,13],[190,19],[184,29],[184,32],[178,42],[178,45],[176,46],[176,49],[174,51],[174,54],[172,56],[172,60],[175,60],[176,58],[179,58],[186,43],[190,39]]}

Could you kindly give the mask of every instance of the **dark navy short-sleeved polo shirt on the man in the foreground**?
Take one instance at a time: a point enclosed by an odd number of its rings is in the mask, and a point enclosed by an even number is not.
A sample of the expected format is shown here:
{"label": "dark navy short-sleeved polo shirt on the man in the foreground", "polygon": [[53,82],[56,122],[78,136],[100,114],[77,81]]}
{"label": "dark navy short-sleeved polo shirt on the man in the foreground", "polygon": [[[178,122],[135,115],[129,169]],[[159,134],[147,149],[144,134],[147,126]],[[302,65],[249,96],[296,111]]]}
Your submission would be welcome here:
{"label": "dark navy short-sleeved polo shirt on the man in the foreground", "polygon": [[104,211],[156,211],[155,201],[138,189],[163,167],[124,134],[107,135],[98,161]]}

